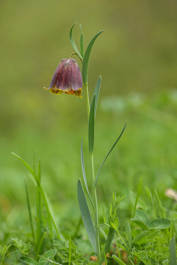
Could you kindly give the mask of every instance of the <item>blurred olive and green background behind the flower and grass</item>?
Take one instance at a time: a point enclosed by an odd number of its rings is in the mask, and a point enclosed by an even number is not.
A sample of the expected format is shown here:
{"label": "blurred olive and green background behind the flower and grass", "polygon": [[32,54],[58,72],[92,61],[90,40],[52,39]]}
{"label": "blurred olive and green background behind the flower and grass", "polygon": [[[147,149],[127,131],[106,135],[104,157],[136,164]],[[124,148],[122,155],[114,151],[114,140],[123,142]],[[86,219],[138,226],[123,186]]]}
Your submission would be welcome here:
{"label": "blurred olive and green background behind the flower and grass", "polygon": [[[122,215],[129,216],[131,195],[140,180],[164,191],[177,178],[177,5],[161,1],[1,1],[0,208],[9,227],[28,222],[24,176],[32,204],[35,190],[25,167],[34,151],[42,161],[42,184],[58,219],[79,219],[77,180],[82,179],[83,137],[87,182],[87,113],[83,99],[44,90],[63,58],[74,52],[69,30],[85,48],[100,30],[89,63],[90,98],[101,74],[95,134],[95,172],[111,145],[126,130],[101,169],[97,193],[107,204],[112,192],[126,195]],[[76,56],[73,56],[77,59]],[[77,59],[79,66],[81,63]],[[144,189],[141,196],[144,197]],[[66,207],[67,206],[67,207]],[[20,220],[20,221],[19,221]],[[7,223],[3,223],[4,229]],[[12,231],[13,233],[13,231]],[[4,235],[1,235],[3,239]],[[14,236],[14,234],[13,234]]]}

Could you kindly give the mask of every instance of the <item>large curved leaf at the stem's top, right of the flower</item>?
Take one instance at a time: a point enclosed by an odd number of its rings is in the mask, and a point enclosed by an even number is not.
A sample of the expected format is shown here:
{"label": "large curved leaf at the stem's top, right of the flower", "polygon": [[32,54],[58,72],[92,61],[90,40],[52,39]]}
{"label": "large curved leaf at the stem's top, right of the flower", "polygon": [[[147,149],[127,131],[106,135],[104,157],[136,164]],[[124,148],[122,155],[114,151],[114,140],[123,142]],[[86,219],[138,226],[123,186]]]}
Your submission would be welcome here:
{"label": "large curved leaf at the stem's top, right of the flower", "polygon": [[83,78],[83,83],[84,85],[88,85],[88,66],[89,66],[89,58],[90,58],[90,53],[92,50],[92,47],[94,45],[94,42],[96,40],[96,38],[101,34],[101,32],[103,32],[103,30],[101,30],[100,32],[98,32],[89,42],[89,45],[86,48],[84,57],[83,57],[83,63],[82,63],[82,78]]}

